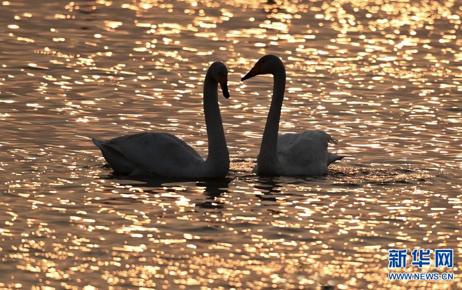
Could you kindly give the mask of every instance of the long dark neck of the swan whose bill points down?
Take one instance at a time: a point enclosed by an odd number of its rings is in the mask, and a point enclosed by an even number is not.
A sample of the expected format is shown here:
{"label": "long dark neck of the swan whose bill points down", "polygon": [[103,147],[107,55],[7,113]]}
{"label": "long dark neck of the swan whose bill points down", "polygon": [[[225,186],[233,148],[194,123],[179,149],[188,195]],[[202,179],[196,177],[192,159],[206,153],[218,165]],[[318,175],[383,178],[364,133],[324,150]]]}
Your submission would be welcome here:
{"label": "long dark neck of the swan whose bill points down", "polygon": [[225,164],[229,166],[229,153],[218,106],[218,81],[210,77],[208,72],[204,80],[204,115],[208,139],[208,156],[205,162],[213,168]]}

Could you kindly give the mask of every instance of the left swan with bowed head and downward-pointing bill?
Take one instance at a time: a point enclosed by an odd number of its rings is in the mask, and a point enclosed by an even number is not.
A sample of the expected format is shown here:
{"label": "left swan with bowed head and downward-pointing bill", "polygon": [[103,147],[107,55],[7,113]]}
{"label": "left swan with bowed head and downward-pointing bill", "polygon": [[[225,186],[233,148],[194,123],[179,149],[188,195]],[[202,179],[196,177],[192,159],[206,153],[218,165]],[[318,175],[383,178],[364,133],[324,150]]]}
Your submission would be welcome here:
{"label": "left swan with bowed head and downward-pointing bill", "polygon": [[220,61],[211,64],[204,80],[204,115],[208,156],[199,153],[175,135],[144,132],[108,141],[92,139],[114,172],[131,176],[180,178],[225,177],[229,171],[229,152],[218,105],[217,87],[229,98],[228,71]]}

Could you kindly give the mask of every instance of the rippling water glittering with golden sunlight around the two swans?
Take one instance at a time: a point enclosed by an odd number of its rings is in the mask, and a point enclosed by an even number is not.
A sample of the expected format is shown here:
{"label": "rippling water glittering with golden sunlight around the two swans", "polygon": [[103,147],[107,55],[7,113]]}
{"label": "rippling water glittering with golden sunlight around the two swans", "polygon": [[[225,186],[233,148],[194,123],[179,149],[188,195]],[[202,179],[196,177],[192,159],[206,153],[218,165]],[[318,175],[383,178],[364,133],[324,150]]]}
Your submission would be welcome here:
{"label": "rippling water glittering with golden sunlight around the two swans", "polygon": [[[3,1],[0,286],[461,287],[459,6]],[[250,173],[272,78],[240,78],[267,53],[287,69],[280,131],[339,139],[331,174]],[[112,175],[89,137],[168,131],[206,155],[216,60],[228,177]],[[454,248],[455,265],[391,271],[393,247]],[[456,275],[388,280],[401,271]]]}

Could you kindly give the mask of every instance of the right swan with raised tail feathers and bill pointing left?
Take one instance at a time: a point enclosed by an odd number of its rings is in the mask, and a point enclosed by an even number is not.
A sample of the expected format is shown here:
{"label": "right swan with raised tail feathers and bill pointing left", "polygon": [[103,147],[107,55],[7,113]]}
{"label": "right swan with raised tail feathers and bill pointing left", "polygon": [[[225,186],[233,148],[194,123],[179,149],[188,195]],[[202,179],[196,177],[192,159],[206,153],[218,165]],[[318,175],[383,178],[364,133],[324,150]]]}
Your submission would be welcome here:
{"label": "right swan with raised tail feathers and bill pointing left", "polygon": [[336,143],[329,134],[313,130],[278,137],[285,90],[285,67],[282,61],[275,55],[265,55],[241,80],[259,74],[272,74],[274,87],[254,173],[285,176],[328,173],[329,164],[344,157],[328,152],[328,143]]}

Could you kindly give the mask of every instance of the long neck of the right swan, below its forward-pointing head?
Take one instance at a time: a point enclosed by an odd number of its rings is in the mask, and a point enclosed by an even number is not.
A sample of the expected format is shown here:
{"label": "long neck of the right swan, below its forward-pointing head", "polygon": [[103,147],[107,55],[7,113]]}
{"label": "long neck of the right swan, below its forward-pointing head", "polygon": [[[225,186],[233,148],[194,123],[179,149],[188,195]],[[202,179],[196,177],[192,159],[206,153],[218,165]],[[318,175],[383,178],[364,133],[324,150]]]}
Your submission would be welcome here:
{"label": "long neck of the right swan, below its forward-pointing head", "polygon": [[[273,98],[266,118],[265,131],[261,140],[260,154],[258,157],[259,168],[276,165],[278,151],[279,119],[281,116],[282,101],[285,90],[285,68],[279,69],[274,74]],[[268,170],[271,170],[268,168]]]}

